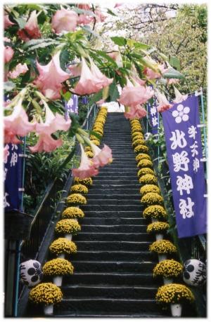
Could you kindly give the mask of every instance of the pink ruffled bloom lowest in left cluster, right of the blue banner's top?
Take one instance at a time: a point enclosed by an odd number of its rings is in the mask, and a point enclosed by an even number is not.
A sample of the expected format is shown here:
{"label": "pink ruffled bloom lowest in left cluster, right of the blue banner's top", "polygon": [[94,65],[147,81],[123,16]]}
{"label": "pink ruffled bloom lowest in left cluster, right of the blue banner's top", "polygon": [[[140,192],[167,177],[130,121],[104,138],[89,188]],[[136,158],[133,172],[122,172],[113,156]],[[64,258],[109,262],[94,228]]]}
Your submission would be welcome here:
{"label": "pink ruffled bloom lowest in left cluster, right of the blue banner's top", "polygon": [[61,139],[54,140],[51,135],[46,133],[41,133],[39,135],[39,140],[34,147],[29,147],[32,153],[34,152],[51,152],[55,150],[57,147],[63,145],[63,141]]}

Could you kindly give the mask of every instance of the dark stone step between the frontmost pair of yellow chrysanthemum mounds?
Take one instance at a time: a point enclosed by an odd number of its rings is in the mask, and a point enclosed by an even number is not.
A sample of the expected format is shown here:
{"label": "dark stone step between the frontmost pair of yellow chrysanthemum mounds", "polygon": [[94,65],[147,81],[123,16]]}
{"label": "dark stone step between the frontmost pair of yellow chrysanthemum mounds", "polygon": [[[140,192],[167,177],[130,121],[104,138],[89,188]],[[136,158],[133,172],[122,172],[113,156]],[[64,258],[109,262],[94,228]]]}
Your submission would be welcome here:
{"label": "dark stone step between the frontmost pair of yellow chrysanthemum mounds", "polygon": [[144,286],[109,286],[109,285],[83,285],[83,286],[62,286],[63,297],[104,297],[109,298],[112,294],[113,298],[130,298],[130,299],[146,299],[155,298],[157,288]]}

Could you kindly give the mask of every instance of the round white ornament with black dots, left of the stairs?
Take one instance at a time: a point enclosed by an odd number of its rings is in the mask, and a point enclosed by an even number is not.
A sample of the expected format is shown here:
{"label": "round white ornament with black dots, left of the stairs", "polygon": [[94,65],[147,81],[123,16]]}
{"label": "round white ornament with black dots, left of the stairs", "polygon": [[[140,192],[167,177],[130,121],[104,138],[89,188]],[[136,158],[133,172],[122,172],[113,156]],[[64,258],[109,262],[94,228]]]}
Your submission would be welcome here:
{"label": "round white ornament with black dots, left of the stairs", "polygon": [[37,285],[42,278],[41,264],[37,260],[27,260],[20,264],[20,281],[29,288]]}

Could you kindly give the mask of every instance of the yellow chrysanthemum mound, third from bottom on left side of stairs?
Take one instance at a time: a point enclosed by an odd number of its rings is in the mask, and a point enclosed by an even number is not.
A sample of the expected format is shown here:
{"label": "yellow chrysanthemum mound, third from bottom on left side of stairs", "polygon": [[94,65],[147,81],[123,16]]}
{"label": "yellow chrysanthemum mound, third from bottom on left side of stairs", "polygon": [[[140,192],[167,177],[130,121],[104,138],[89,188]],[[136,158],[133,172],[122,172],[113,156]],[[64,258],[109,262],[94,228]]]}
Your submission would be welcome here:
{"label": "yellow chrysanthemum mound, third from bottom on left side of stairs", "polygon": [[69,241],[66,238],[58,238],[51,243],[49,250],[51,253],[59,255],[61,253],[72,254],[77,253],[77,246],[73,241]]}

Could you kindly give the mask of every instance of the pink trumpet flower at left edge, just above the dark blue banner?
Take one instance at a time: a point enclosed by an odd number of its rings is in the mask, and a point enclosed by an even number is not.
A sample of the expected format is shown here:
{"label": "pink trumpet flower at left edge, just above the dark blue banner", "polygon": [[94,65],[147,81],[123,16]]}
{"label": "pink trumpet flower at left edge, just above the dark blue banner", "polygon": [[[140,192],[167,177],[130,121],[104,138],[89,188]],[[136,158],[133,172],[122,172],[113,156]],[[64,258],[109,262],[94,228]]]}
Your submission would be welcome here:
{"label": "pink trumpet flower at left edge, just above the dark blue banner", "polygon": [[[25,109],[22,107],[21,98],[18,104],[14,107],[13,112],[9,116],[4,116],[4,130],[5,130],[5,142],[15,143],[18,138],[15,135],[25,136],[28,133],[34,131],[36,123],[30,123]],[[8,142],[10,141],[10,142]],[[20,142],[18,140],[18,142]]]}

